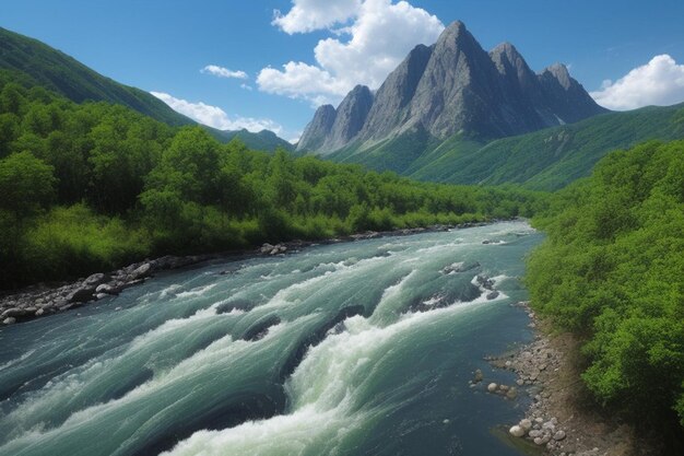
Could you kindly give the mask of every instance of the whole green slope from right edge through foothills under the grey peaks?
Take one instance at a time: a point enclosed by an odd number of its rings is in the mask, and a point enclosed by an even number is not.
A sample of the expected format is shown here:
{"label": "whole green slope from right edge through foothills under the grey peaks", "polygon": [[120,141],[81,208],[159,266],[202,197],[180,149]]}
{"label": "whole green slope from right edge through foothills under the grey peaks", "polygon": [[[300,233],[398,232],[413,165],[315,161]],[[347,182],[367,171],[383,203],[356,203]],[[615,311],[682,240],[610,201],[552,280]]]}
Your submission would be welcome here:
{"label": "whole green slope from right edge through foothills under the grey peaks", "polygon": [[[365,151],[352,147],[329,157],[377,171],[392,169],[421,180],[516,183],[530,189],[555,190],[588,176],[593,165],[613,150],[648,140],[682,138],[684,104],[609,113],[488,143],[460,133],[435,142],[426,131],[414,130]],[[414,153],[416,150],[423,152]]]}

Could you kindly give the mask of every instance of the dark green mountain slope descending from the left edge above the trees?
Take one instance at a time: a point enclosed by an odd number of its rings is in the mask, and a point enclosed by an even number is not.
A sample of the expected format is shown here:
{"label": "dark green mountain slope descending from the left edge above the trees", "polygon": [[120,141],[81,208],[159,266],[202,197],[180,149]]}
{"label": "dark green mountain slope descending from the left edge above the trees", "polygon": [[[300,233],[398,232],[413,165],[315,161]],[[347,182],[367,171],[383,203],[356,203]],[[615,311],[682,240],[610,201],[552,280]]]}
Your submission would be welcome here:
{"label": "dark green mountain slope descending from the left edge above the trees", "polygon": [[148,92],[105,78],[37,39],[1,27],[0,69],[24,73],[75,103],[92,100],[121,104],[172,126],[194,124]]}

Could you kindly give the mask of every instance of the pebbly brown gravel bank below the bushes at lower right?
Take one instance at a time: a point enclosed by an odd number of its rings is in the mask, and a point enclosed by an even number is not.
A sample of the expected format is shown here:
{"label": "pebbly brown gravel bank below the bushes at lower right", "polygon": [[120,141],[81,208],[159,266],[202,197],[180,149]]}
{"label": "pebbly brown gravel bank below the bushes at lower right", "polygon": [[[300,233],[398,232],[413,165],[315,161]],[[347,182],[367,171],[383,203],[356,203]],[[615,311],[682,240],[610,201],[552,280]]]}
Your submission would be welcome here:
{"label": "pebbly brown gravel bank below the bushes at lower right", "polygon": [[[531,406],[526,418],[509,423],[511,439],[524,439],[553,456],[635,456],[650,454],[637,445],[634,429],[604,414],[591,400],[580,379],[579,343],[569,334],[547,336],[528,303],[519,303],[529,314],[534,341],[519,350],[490,359],[498,369],[518,375],[519,389],[526,390]],[[475,373],[477,377],[477,373]],[[488,385],[490,391],[500,393]]]}

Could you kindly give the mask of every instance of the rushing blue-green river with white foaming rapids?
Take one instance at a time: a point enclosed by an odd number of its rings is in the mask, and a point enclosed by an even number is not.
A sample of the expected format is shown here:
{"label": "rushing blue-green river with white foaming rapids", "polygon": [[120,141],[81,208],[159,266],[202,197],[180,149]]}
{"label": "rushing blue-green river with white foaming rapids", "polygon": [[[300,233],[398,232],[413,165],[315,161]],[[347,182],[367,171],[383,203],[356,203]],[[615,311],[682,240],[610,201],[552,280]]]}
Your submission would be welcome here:
{"label": "rushing blue-green river with white foaming rapids", "polygon": [[512,382],[483,356],[531,337],[510,304],[540,239],[509,222],[315,246],[2,328],[0,455],[518,455],[492,429],[524,399],[468,382]]}

